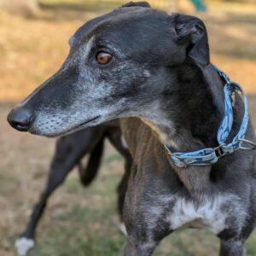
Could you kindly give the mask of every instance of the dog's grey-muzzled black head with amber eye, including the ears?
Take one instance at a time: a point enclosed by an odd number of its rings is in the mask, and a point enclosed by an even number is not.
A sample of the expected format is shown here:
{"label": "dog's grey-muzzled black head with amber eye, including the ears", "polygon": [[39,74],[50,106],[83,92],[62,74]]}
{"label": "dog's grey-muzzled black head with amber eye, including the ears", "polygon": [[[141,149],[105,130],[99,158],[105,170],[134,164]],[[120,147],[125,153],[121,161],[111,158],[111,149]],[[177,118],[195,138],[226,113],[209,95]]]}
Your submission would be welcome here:
{"label": "dog's grey-muzzled black head with amber eye, including the ears", "polygon": [[173,67],[209,63],[203,22],[127,3],[90,20],[69,41],[61,69],[9,113],[19,131],[58,136],[125,116],[152,114],[177,86]]}

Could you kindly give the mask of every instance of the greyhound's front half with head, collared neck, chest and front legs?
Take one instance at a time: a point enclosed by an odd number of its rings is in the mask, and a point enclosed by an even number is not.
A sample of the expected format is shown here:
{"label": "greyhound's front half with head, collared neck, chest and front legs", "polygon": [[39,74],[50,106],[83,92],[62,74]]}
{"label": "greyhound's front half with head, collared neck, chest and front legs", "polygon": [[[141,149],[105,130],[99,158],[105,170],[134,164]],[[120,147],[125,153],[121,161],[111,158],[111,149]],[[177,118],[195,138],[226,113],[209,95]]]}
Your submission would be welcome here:
{"label": "greyhound's front half with head, collared neck, chest and front legs", "polygon": [[216,234],[221,256],[245,255],[256,173],[242,142],[254,147],[254,131],[241,88],[210,62],[204,23],[127,3],[69,43],[61,69],[9,113],[10,125],[55,137],[121,119],[133,159],[125,255],[151,255],[184,227]]}

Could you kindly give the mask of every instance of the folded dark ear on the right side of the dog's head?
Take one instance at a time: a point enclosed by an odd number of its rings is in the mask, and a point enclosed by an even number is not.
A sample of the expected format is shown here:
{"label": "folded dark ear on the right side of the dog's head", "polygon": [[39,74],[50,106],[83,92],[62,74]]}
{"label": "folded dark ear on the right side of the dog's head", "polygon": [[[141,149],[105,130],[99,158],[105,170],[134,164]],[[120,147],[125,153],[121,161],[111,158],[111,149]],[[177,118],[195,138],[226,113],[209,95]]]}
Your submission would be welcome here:
{"label": "folded dark ear on the right side of the dog's head", "polygon": [[177,44],[186,47],[187,56],[205,67],[210,62],[207,28],[193,16],[176,15],[174,17],[174,37]]}

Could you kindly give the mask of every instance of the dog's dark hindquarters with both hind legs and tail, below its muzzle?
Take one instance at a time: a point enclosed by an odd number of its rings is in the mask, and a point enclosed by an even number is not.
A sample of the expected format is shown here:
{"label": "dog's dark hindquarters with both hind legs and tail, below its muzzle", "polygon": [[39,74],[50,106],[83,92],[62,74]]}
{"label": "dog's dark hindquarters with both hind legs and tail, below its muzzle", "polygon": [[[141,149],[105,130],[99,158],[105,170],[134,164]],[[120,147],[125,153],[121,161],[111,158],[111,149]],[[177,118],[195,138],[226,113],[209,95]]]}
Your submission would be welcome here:
{"label": "dog's dark hindquarters with both hind legs and tail, below its muzzle", "polygon": [[[118,122],[113,121],[76,131],[73,134],[61,137],[57,140],[55,144],[55,154],[51,161],[48,182],[44,192],[33,209],[26,230],[15,242],[18,255],[25,256],[34,246],[35,231],[44,213],[49,196],[65,181],[68,173],[73,170],[74,166],[79,167],[79,177],[84,187],[89,186],[94,180],[99,170],[103,153],[103,143],[106,138],[108,138],[113,147],[116,148],[119,154],[125,159],[125,175],[117,189],[118,210],[121,221],[120,228],[125,232],[122,212],[125,201],[125,191],[131,170],[131,154],[122,141]],[[81,160],[86,154],[90,155],[87,166],[84,167]]]}

